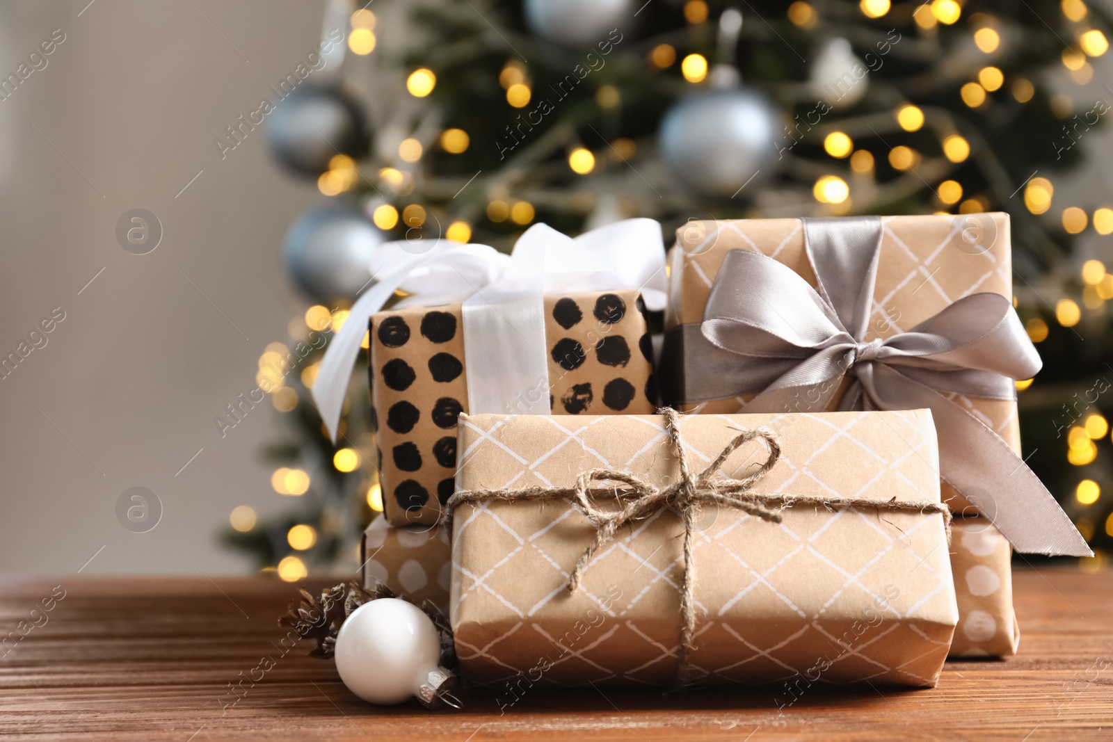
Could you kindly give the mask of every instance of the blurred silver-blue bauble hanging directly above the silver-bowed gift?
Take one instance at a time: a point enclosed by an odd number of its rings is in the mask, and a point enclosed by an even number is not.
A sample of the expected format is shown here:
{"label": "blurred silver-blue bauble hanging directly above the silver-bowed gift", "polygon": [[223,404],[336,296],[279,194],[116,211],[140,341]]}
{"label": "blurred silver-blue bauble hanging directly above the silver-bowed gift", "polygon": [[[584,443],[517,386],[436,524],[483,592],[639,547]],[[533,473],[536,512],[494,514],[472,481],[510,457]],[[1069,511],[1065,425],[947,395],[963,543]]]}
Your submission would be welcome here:
{"label": "blurred silver-blue bauble hanging directly above the silver-bowed gift", "polygon": [[677,177],[695,190],[733,196],[776,168],[778,120],[777,109],[756,90],[698,93],[664,115],[661,152]]}

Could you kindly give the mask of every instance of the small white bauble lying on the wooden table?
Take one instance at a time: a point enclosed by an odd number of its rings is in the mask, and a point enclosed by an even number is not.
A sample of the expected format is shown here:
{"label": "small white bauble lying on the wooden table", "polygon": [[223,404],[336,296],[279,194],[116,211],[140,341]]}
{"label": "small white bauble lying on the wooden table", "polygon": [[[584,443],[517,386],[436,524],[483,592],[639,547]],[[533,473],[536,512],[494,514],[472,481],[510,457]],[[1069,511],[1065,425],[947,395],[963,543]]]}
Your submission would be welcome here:
{"label": "small white bauble lying on the wooden table", "polygon": [[453,674],[440,666],[436,626],[413,603],[380,597],[352,612],[336,635],[336,670],[364,701],[393,705],[417,696],[435,703]]}

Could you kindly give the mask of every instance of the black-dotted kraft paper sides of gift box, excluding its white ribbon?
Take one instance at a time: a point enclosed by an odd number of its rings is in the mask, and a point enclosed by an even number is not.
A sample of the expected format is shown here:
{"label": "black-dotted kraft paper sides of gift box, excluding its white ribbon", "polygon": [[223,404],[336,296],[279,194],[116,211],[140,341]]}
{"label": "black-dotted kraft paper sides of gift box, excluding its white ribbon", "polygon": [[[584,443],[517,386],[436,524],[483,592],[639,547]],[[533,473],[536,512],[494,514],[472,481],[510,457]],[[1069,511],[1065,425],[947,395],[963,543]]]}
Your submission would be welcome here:
{"label": "black-dotted kraft paper sides of gift box, excluding its white ribbon", "polygon": [[[549,407],[558,415],[657,407],[646,305],[636,290],[544,297]],[[452,494],[456,417],[467,412],[461,305],[371,318],[371,419],[386,520],[435,524]],[[508,410],[512,412],[512,410]]]}

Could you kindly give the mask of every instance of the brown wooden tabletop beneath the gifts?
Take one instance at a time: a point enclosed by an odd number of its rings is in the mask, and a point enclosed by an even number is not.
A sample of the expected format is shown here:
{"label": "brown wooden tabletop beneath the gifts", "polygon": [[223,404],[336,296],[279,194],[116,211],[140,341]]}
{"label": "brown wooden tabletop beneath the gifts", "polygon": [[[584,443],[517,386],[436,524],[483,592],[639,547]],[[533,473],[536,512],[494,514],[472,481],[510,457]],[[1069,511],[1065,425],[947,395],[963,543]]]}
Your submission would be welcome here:
{"label": "brown wooden tabletop beneath the gifts", "polygon": [[[1021,654],[949,662],[927,691],[815,687],[778,715],[762,689],[661,695],[532,689],[500,715],[374,708],[331,661],[283,653],[287,584],[253,580],[0,583],[0,739],[18,740],[1113,740],[1113,572],[1016,573]],[[33,625],[32,623],[40,625]],[[28,626],[32,626],[28,631]],[[260,667],[264,656],[273,667]],[[269,664],[269,663],[264,663]],[[243,676],[246,691],[229,683]]]}

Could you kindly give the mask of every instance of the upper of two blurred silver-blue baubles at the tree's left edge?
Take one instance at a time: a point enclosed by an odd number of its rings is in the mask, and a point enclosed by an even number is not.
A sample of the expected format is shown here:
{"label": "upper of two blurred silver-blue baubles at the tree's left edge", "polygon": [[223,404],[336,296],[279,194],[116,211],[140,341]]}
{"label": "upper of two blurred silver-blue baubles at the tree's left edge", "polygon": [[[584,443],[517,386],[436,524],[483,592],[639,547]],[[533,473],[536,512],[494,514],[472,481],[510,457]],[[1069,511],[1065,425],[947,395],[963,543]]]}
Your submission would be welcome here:
{"label": "upper of two blurred silver-blue baubles at the tree's left edge", "polygon": [[367,145],[363,111],[335,87],[295,89],[275,107],[266,132],[278,161],[312,178],[327,170],[336,155],[357,157]]}

